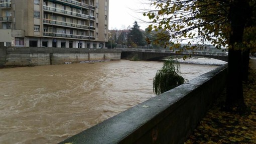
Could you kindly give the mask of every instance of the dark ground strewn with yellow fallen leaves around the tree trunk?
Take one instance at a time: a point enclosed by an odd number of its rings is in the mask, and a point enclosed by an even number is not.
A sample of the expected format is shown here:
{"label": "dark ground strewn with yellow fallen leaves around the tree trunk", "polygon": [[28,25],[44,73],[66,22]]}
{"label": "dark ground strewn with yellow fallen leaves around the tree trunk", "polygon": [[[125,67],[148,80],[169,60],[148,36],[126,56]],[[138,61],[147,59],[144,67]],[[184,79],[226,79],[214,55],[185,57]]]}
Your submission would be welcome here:
{"label": "dark ground strewn with yellow fallen leaves around the tree trunk", "polygon": [[224,91],[185,144],[256,143],[256,59],[250,60],[249,72],[249,82],[243,84],[243,94],[250,113],[240,115],[221,110]]}

